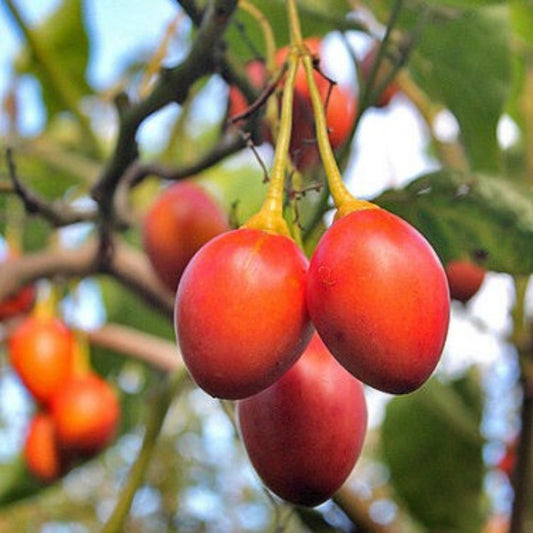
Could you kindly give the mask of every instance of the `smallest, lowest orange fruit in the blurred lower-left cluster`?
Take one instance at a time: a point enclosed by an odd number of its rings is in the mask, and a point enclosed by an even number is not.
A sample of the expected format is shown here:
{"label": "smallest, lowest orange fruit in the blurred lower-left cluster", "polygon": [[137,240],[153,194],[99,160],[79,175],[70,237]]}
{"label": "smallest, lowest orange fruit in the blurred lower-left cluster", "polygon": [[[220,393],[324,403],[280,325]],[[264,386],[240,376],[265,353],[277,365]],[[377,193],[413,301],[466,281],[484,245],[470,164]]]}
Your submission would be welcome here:
{"label": "smallest, lowest orange fruit in the blurred lower-left cluster", "polygon": [[28,470],[45,483],[56,480],[62,472],[61,453],[55,426],[49,413],[37,413],[30,421],[23,457]]}

